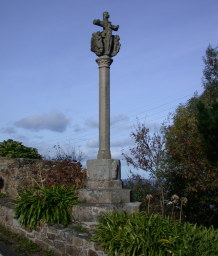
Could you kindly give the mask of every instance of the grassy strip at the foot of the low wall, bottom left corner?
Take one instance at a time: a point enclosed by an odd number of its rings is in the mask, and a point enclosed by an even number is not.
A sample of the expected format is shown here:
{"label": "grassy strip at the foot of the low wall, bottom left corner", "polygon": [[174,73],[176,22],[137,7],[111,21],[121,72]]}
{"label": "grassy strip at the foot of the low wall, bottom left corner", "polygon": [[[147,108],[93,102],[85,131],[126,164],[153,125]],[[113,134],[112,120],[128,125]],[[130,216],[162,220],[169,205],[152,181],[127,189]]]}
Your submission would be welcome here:
{"label": "grassy strip at the foot of the low wall, bottom left corner", "polygon": [[[37,253],[40,256],[54,256],[53,251],[50,251],[50,250],[45,251],[45,250],[41,249],[37,244],[35,244],[31,240],[29,240],[28,238],[19,236],[15,233],[11,233],[10,231],[8,231],[6,228],[4,228],[1,225],[0,225],[0,234],[3,234],[5,236],[7,236],[8,238],[13,239],[16,243],[19,244],[14,248],[15,252],[18,252],[21,254],[25,254],[26,252],[28,252],[30,255],[31,254],[35,255],[35,253]],[[1,236],[0,236],[0,241],[2,241],[5,244],[8,244],[8,245],[13,244],[9,240],[7,240],[6,238],[3,238]]]}

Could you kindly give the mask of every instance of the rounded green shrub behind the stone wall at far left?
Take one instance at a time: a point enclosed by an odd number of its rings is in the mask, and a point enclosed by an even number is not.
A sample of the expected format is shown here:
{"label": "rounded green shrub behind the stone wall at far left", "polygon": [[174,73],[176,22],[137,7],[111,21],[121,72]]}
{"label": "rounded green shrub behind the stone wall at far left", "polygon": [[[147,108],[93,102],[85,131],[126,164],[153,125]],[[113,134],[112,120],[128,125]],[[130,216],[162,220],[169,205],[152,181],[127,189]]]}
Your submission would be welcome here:
{"label": "rounded green shrub behind the stone wall at far left", "polygon": [[36,148],[22,145],[22,142],[7,139],[7,141],[0,142],[0,156],[16,157],[16,158],[30,158],[42,159]]}

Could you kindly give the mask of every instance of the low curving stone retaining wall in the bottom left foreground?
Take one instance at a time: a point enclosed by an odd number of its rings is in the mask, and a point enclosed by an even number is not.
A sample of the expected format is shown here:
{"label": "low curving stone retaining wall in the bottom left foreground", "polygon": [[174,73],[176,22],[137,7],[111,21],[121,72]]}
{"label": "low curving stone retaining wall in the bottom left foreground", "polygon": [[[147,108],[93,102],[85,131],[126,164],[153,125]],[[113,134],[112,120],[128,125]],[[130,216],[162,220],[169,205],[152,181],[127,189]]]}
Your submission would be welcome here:
{"label": "low curving stone retaining wall in the bottom left foreground", "polygon": [[0,199],[0,224],[9,231],[28,237],[42,249],[53,250],[57,256],[106,255],[101,246],[90,241],[91,233],[79,233],[72,228],[62,228],[57,224],[40,223],[35,230],[21,226],[16,219],[13,219],[16,206],[7,203],[12,200],[8,197]]}

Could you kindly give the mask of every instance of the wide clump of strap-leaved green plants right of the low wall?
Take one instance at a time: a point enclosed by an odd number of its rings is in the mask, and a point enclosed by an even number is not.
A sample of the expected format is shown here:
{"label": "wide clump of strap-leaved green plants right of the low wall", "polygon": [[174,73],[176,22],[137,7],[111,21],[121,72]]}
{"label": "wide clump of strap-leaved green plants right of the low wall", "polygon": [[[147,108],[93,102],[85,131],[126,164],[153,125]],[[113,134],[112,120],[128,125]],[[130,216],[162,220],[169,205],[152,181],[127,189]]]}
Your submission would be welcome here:
{"label": "wide clump of strap-leaved green plants right of the low wall", "polygon": [[170,222],[169,216],[145,211],[103,213],[91,238],[109,255],[199,256],[218,255],[218,231],[211,226]]}

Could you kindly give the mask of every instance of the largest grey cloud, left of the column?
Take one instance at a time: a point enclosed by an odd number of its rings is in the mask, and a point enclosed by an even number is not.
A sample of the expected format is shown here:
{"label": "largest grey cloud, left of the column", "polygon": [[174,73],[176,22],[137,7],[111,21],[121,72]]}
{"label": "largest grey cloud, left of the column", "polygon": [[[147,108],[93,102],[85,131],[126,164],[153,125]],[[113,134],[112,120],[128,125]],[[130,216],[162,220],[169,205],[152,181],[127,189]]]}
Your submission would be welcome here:
{"label": "largest grey cloud, left of the column", "polygon": [[65,116],[64,113],[52,109],[49,113],[34,114],[18,121],[13,124],[17,127],[30,130],[51,130],[63,132],[66,130],[66,126],[69,124],[71,117]]}

